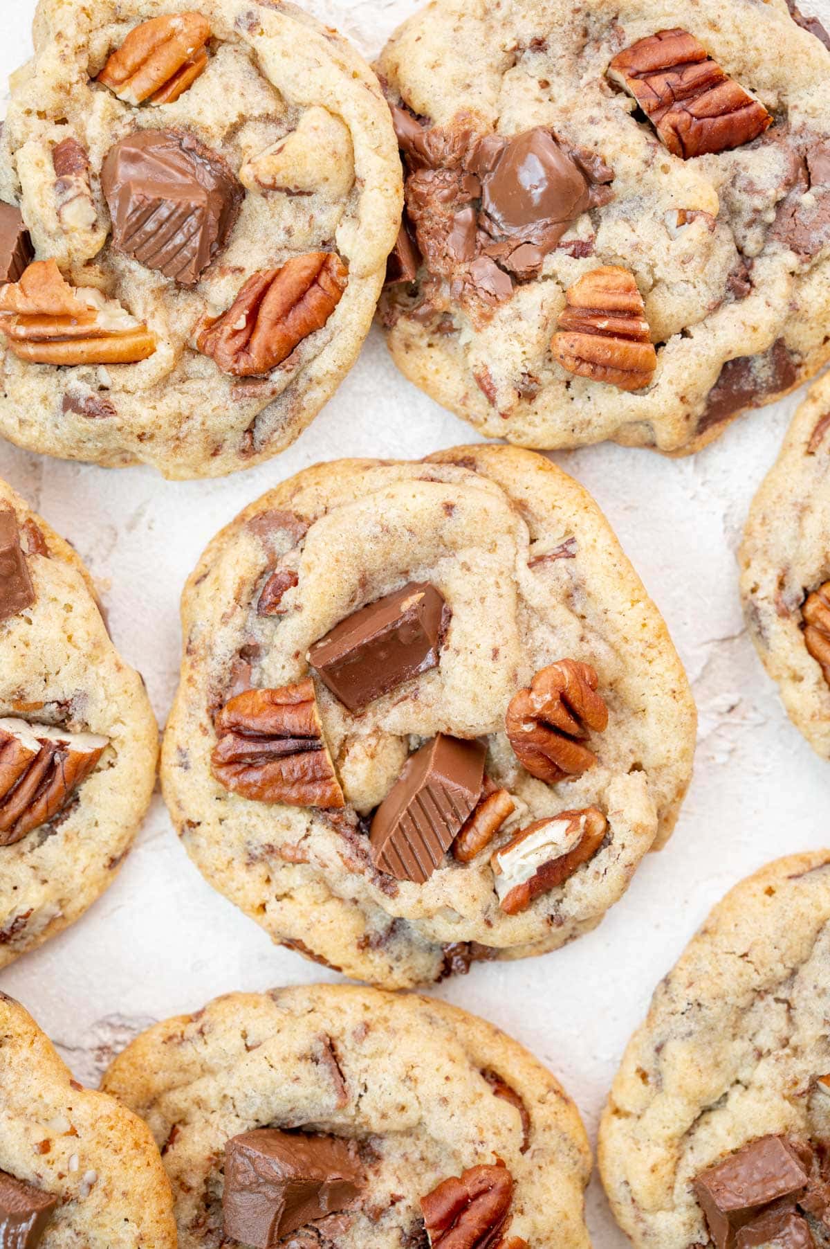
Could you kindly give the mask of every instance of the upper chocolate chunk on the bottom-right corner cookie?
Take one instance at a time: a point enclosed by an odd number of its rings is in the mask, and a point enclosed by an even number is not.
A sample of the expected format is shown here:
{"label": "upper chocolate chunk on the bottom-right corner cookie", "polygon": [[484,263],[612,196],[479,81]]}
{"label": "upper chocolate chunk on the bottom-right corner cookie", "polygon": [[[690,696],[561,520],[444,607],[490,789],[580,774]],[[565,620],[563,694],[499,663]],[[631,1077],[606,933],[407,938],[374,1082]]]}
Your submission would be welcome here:
{"label": "upper chocolate chunk on the bottom-right corner cookie", "polygon": [[[784,1137],[759,1137],[698,1175],[694,1190],[718,1249],[736,1249],[738,1232],[783,1198],[806,1188],[808,1168]],[[764,1242],[748,1242],[763,1244]]]}

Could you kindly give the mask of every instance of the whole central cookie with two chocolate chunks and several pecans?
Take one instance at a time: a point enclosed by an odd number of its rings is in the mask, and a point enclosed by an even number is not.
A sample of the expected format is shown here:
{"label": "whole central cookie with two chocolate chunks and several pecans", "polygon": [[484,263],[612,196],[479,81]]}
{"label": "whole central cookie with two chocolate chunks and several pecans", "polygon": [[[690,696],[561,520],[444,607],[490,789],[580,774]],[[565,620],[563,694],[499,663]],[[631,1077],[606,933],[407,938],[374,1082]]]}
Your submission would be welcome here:
{"label": "whole central cookie with two chocolate chunks and several pecans", "polygon": [[532,452],[310,468],[211,542],[182,627],[185,847],[348,975],[555,949],[671,832],[685,673],[593,500]]}

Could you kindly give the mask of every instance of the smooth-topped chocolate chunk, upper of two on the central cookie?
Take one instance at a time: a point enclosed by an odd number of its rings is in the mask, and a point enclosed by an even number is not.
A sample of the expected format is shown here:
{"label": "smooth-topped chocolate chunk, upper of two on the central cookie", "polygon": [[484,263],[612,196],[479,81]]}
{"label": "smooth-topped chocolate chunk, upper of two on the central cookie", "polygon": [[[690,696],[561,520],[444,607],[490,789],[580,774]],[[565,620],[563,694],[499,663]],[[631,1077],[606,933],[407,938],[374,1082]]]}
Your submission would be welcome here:
{"label": "smooth-topped chocolate chunk, upper of two on the central cookie", "polygon": [[434,586],[409,582],[361,607],[315,642],[308,662],[349,711],[438,664],[444,601]]}

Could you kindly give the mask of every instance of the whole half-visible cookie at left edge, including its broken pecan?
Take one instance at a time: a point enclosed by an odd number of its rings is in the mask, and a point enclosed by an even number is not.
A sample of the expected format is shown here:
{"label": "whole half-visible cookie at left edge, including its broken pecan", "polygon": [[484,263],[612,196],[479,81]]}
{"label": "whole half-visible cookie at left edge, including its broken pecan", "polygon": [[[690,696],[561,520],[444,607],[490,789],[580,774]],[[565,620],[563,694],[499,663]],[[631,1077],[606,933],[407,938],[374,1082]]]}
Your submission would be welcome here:
{"label": "whole half-visible cookie at left edge, including its broken pecan", "polygon": [[157,741],[84,565],[0,481],[0,967],[112,883],[150,803]]}

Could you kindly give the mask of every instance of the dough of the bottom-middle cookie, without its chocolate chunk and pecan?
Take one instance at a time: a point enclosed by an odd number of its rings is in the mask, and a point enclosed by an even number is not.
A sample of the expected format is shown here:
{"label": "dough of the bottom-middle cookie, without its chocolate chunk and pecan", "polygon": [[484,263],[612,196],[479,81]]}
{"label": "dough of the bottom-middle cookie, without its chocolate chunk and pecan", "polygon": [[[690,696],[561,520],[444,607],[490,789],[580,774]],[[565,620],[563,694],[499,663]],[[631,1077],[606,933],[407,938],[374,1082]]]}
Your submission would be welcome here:
{"label": "dough of the bottom-middle cookie, without its chocolate chunk and pecan", "polygon": [[[484,1072],[524,1103],[527,1135]],[[426,1244],[418,1198],[497,1157],[515,1182],[509,1235],[590,1245],[590,1152],[573,1102],[517,1042],[442,1002],[343,985],[230,994],[142,1033],[104,1088],[164,1149],[180,1249],[223,1243],[225,1143],[266,1125],[361,1143],[367,1185],[338,1220],[339,1249]]]}

